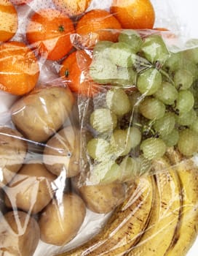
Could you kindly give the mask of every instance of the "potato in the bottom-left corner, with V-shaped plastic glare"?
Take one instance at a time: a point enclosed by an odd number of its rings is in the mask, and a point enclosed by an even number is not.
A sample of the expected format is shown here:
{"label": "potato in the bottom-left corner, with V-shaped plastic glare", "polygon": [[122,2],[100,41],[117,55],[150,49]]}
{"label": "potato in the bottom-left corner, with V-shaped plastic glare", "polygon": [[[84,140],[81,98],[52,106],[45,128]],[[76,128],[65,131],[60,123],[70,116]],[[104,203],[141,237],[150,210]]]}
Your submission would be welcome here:
{"label": "potato in the bottom-left corner, with V-shaped plastic glare", "polygon": [[0,255],[32,256],[39,244],[39,225],[23,211],[9,211],[0,219]]}

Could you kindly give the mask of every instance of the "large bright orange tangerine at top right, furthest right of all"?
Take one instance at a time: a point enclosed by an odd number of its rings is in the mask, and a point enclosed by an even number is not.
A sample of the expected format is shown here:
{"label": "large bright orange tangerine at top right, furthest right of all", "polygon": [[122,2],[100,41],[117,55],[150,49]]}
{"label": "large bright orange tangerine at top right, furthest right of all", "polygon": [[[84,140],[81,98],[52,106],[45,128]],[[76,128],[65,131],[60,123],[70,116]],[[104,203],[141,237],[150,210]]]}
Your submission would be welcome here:
{"label": "large bright orange tangerine at top right, furthest right of all", "polygon": [[110,12],[123,29],[153,29],[155,12],[149,0],[113,0]]}

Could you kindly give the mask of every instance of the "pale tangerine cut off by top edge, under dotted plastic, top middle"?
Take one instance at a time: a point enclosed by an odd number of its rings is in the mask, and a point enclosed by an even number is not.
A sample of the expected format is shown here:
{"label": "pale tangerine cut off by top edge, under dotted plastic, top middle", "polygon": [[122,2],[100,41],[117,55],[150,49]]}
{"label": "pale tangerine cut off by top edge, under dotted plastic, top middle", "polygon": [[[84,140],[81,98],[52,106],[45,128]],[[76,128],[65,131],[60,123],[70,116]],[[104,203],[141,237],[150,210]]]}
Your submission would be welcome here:
{"label": "pale tangerine cut off by top edge, under dotted plastic, top middle", "polygon": [[90,6],[92,0],[52,0],[55,7],[68,16],[81,15]]}

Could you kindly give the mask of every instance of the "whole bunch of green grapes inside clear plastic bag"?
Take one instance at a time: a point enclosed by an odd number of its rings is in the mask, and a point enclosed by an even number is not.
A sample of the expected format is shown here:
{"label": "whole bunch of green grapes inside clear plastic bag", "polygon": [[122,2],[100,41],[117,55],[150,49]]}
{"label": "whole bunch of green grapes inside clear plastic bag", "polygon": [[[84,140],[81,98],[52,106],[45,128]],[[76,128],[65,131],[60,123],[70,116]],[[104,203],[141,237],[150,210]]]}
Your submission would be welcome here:
{"label": "whole bunch of green grapes inside clear plastic bag", "polygon": [[118,42],[95,45],[90,76],[107,90],[90,115],[94,179],[125,181],[168,147],[197,153],[197,64],[198,48],[173,53],[156,32],[124,30]]}

